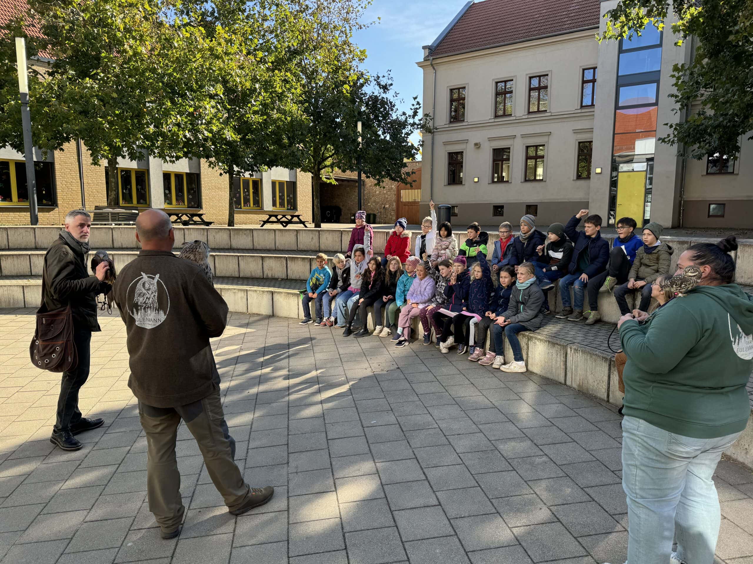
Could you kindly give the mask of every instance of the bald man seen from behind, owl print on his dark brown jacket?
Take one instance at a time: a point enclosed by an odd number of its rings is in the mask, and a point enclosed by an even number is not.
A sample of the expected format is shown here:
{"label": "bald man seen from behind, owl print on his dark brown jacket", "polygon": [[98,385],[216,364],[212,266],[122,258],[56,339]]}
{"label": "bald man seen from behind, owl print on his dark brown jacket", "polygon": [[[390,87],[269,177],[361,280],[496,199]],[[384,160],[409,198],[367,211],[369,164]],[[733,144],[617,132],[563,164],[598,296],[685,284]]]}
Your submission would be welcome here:
{"label": "bald man seen from behind, owl print on his dark brown jacket", "polygon": [[227,304],[199,265],[172,254],[175,233],[163,211],[139,215],[136,239],[142,250],[120,271],[115,303],[128,335],[128,386],[139,399],[147,437],[149,511],[162,538],[174,538],[185,511],[175,458],[181,420],[196,438],[209,477],[231,514],[264,505],[274,489],[248,487],[233,461],[235,441],[224,420],[209,344],[224,332]]}

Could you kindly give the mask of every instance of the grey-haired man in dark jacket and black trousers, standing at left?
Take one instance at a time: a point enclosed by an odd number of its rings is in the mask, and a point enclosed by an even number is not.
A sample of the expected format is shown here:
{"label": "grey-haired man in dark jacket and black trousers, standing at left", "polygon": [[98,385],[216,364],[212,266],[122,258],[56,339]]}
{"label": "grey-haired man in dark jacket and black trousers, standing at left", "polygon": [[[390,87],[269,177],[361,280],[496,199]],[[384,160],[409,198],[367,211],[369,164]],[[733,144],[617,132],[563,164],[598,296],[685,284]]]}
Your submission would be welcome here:
{"label": "grey-haired man in dark jacket and black trousers, standing at left", "polygon": [[44,254],[41,309],[53,311],[71,306],[73,342],[78,353],[78,365],[62,373],[57,417],[50,437],[50,442],[62,450],[80,449],[83,445],[75,435],[105,423],[102,419],[81,417],[78,409],[78,390],[89,378],[92,332],[102,330],[96,318],[96,296],[110,291],[110,284],[104,281],[107,262],[101,262],[93,276],[87,269],[91,223],[86,211],[70,211],[59,237]]}

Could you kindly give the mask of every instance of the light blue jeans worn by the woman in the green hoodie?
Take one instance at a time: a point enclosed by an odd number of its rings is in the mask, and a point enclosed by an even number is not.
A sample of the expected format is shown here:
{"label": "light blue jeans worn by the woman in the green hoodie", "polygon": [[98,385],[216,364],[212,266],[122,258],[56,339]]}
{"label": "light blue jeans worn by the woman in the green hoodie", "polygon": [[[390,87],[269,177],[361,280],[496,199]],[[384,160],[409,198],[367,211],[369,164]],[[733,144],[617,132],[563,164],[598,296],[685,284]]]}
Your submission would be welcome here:
{"label": "light blue jeans worn by the woman in the green hoodie", "polygon": [[623,419],[628,564],[667,564],[675,535],[681,560],[714,562],[721,516],[712,476],[721,453],[739,435],[691,438],[636,417]]}

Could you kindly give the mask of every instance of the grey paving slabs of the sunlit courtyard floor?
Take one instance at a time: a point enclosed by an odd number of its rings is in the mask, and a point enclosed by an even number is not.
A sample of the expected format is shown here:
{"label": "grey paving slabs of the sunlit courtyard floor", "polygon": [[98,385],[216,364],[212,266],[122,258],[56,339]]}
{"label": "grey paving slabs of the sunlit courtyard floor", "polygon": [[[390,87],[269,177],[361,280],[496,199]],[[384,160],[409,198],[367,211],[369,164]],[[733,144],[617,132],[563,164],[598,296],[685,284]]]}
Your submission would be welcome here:
{"label": "grey paving slabs of the sunlit courtyard floor", "polygon": [[[244,314],[213,343],[225,412],[246,480],[276,494],[228,514],[181,426],[187,512],[163,541],[120,318],[100,317],[81,393],[105,427],[78,435],[74,453],[48,440],[59,378],[29,365],[33,323],[33,311],[0,310],[2,564],[625,560],[614,408],[454,352]],[[716,482],[717,562],[751,564],[753,475],[722,461]]]}

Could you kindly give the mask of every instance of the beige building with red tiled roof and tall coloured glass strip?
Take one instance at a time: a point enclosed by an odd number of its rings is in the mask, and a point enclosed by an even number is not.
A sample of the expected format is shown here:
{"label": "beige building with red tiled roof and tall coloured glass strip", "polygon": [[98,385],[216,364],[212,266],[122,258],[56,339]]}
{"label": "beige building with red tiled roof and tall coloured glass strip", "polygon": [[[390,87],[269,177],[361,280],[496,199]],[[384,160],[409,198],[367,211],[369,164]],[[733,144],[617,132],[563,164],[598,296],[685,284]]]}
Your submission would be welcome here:
{"label": "beige building with red tiled roof and tall coloured glass strip", "polygon": [[[561,5],[560,5],[561,4]],[[684,119],[667,96],[672,65],[688,62],[666,26],[599,44],[617,0],[526,8],[467,2],[417,64],[425,111],[422,208],[453,206],[482,225],[532,214],[542,225],[590,208],[664,226],[753,227],[753,180],[742,140],[736,159],[681,159],[661,144]],[[541,11],[541,14],[537,12]]]}

